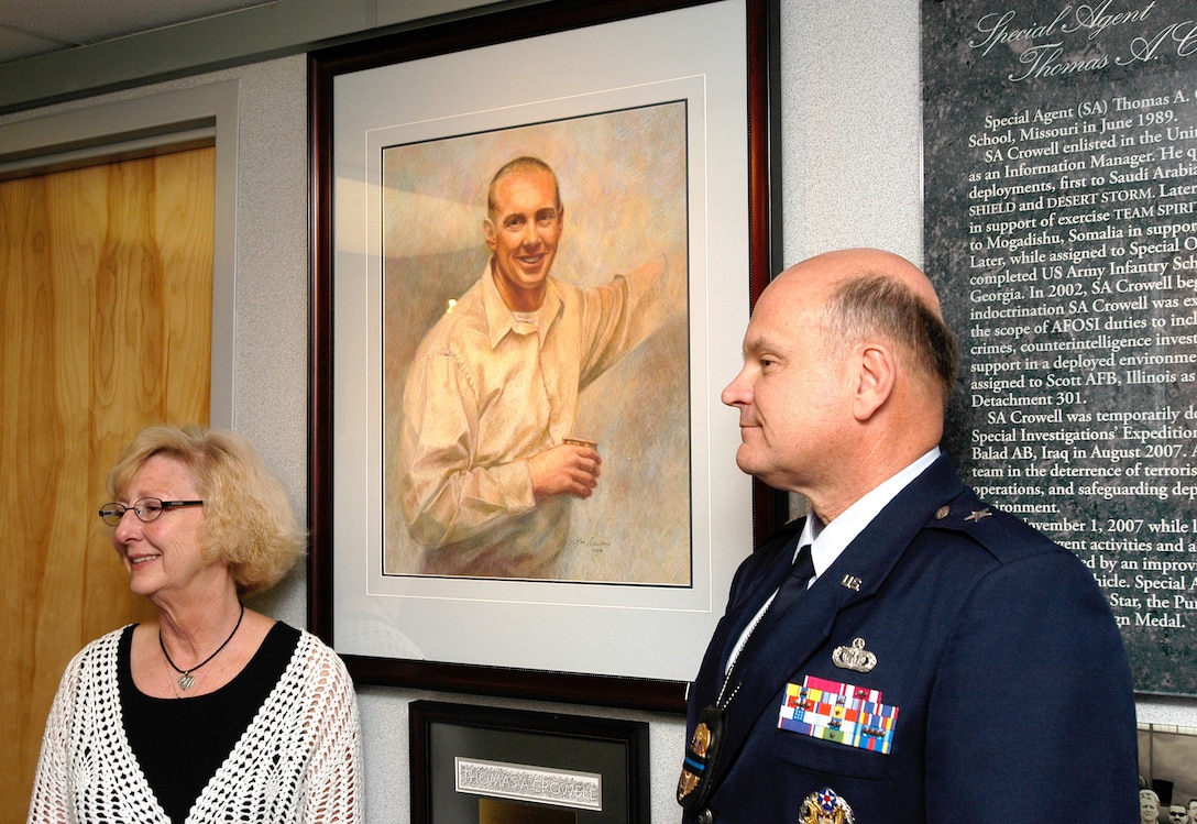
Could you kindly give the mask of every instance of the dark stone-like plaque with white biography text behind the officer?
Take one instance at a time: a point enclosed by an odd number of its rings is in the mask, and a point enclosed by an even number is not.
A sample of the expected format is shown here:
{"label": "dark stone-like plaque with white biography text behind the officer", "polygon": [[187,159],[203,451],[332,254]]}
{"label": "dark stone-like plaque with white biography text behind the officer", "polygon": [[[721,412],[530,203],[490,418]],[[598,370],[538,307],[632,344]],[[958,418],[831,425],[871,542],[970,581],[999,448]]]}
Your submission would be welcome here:
{"label": "dark stone-like plaque with white biography text behind the officer", "polygon": [[948,450],[1197,695],[1197,5],[925,0],[923,95]]}

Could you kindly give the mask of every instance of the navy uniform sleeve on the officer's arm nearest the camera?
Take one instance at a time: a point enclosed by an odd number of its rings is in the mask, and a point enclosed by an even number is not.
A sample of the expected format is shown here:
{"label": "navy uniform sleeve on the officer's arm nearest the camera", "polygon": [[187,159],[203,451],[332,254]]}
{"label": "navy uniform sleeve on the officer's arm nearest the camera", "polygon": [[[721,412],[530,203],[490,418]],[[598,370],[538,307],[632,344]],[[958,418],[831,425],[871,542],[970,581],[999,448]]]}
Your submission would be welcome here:
{"label": "navy uniform sleeve on the officer's arm nearest the camera", "polygon": [[1130,666],[1092,574],[1063,551],[997,568],[932,691],[928,820],[1131,822],[1137,788]]}

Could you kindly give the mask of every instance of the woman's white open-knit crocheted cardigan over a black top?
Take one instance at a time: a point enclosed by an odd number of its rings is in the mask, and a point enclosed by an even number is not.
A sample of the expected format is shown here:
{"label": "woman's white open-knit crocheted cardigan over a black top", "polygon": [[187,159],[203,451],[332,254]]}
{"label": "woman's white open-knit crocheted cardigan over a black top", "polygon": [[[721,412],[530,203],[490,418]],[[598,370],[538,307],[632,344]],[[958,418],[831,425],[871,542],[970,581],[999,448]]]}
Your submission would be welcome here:
{"label": "woman's white open-knit crocheted cardigan over a black top", "polygon": [[[30,824],[169,824],[129,747],[117,691],[122,630],[62,675],[45,723]],[[186,758],[186,743],[180,741]],[[300,632],[282,677],[200,798],[188,824],[363,820],[361,735],[345,665]]]}

